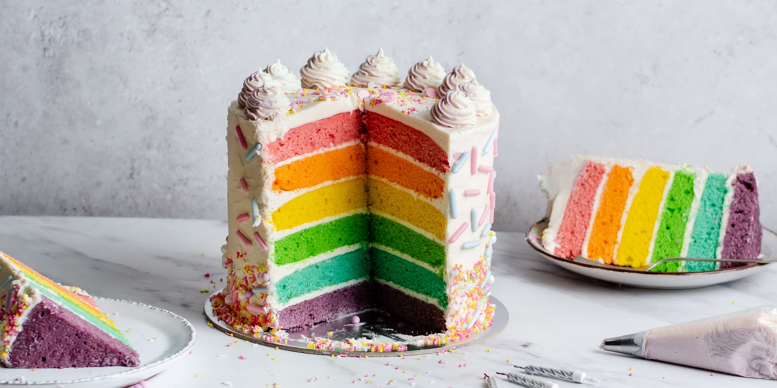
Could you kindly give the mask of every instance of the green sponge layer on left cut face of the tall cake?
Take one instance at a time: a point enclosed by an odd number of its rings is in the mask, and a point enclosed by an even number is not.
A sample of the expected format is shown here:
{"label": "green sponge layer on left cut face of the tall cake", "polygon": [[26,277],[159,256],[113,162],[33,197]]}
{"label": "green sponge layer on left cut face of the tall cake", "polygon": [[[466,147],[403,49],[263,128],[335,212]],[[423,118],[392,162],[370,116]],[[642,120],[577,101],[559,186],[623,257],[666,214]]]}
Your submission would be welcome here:
{"label": "green sponge layer on left cut face of the tall cake", "polygon": [[299,262],[345,245],[367,240],[368,216],[357,213],[327,223],[319,223],[275,241],[274,261],[277,265]]}

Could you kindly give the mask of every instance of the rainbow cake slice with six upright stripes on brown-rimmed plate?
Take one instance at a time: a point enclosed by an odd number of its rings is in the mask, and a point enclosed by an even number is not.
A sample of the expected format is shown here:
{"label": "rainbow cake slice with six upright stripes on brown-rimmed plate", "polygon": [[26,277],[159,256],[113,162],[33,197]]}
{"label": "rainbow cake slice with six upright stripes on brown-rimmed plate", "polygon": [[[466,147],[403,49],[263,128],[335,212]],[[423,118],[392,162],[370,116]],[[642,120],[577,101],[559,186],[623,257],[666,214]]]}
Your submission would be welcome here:
{"label": "rainbow cake slice with six upright stripes on brown-rimmed plate", "polygon": [[[750,166],[730,172],[646,160],[575,156],[540,177],[552,201],[542,244],[638,267],[663,258],[758,258],[761,223]],[[693,272],[740,264],[670,261],[656,271]]]}

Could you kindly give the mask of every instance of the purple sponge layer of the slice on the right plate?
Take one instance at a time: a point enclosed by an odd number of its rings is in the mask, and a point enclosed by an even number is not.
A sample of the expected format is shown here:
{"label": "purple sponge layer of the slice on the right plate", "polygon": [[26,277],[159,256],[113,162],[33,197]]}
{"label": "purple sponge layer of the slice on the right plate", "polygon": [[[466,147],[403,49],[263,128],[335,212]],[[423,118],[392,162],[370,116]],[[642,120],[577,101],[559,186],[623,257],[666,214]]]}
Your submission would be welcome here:
{"label": "purple sponge layer of the slice on the right plate", "polygon": [[[761,216],[758,210],[758,187],[752,172],[737,175],[733,184],[726,237],[723,237],[723,258],[757,258],[761,253]],[[720,268],[744,264],[720,264]]]}

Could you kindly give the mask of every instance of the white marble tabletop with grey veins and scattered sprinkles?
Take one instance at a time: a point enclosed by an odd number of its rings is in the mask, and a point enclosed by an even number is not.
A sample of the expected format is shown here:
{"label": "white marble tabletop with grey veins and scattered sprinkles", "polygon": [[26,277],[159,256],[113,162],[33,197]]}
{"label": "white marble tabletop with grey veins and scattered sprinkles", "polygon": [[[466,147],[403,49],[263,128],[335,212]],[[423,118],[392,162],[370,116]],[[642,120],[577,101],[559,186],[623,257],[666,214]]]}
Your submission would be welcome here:
{"label": "white marble tabletop with grey veins and scattered sprinkles", "polygon": [[[193,353],[150,379],[152,388],[225,382],[246,388],[274,383],[343,387],[367,380],[369,386],[386,388],[391,379],[396,383],[390,386],[485,387],[483,372],[506,372],[514,369],[511,365],[524,364],[579,369],[601,379],[601,387],[774,386],[772,381],[711,376],[702,369],[603,352],[598,345],[620,334],[772,304],[777,267],[704,289],[634,289],[566,272],[538,257],[521,234],[500,233],[493,295],[510,311],[506,331],[482,344],[420,360],[338,359],[244,342],[228,347],[233,338],[207,327],[202,315],[206,294],[200,289],[224,273],[219,248],[225,230],[225,223],[208,220],[0,217],[0,250],[57,282],[82,286],[97,296],[148,303],[190,320],[197,327]],[[205,278],[206,272],[214,276]],[[312,376],[318,380],[308,383]]]}

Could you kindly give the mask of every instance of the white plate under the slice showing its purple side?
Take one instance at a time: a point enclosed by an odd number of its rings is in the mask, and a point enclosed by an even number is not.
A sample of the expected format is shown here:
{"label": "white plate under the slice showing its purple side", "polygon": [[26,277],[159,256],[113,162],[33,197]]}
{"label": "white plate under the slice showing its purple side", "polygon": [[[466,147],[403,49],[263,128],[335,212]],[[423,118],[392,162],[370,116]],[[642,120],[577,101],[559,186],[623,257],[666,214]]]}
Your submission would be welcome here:
{"label": "white plate under the slice showing its purple side", "polygon": [[[0,367],[0,384],[51,388],[120,388],[133,386],[169,368],[194,345],[188,320],[147,304],[95,298],[103,313],[124,332],[141,356],[141,365],[97,368],[22,369]],[[128,331],[130,330],[131,331]]]}

